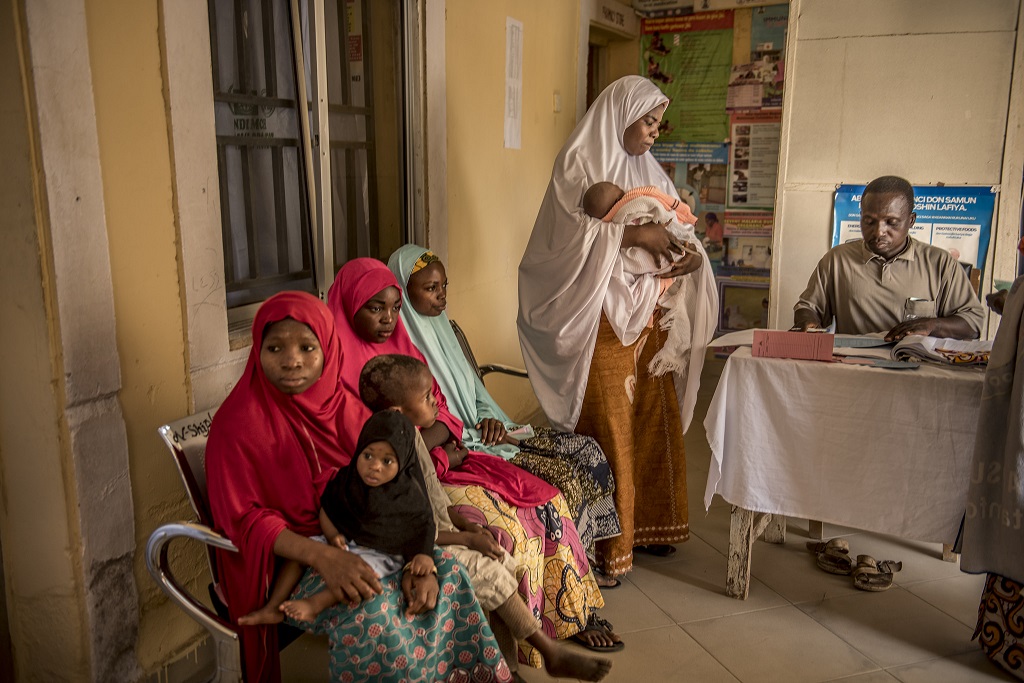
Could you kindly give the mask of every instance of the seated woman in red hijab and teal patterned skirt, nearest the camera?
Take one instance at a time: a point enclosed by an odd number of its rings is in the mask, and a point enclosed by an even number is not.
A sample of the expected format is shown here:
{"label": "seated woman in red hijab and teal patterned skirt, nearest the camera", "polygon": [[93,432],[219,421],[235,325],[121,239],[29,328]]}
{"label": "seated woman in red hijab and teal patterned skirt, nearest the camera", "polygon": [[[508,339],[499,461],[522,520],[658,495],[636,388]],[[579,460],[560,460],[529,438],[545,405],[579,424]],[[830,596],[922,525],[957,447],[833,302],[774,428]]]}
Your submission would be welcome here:
{"label": "seated woman in red hijab and teal patterned skirt, nearest the camera", "polygon": [[[310,538],[321,533],[324,486],[350,460],[343,449],[359,425],[349,423],[366,415],[342,368],[333,316],[315,297],[284,292],[260,307],[249,361],[213,420],[206,455],[214,523],[239,549],[218,551],[231,621],[260,607],[278,559],[293,559],[309,566],[294,599],[327,588],[341,601],[314,622],[292,622],[329,635],[330,680],[398,680],[414,668],[424,680],[511,680],[451,555],[434,547],[436,577],[378,577],[358,556]],[[276,630],[241,632],[246,680],[280,680]]]}

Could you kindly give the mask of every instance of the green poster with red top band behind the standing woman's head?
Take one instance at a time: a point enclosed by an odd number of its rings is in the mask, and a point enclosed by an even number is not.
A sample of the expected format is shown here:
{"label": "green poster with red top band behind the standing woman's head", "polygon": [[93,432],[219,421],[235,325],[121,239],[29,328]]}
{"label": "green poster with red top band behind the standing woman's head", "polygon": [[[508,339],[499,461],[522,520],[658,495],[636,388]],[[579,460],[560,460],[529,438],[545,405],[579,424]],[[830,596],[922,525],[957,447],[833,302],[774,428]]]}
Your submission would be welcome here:
{"label": "green poster with red top band behind the standing woman's head", "polygon": [[666,141],[721,143],[732,69],[732,11],[643,20],[640,73],[671,100],[662,119]]}

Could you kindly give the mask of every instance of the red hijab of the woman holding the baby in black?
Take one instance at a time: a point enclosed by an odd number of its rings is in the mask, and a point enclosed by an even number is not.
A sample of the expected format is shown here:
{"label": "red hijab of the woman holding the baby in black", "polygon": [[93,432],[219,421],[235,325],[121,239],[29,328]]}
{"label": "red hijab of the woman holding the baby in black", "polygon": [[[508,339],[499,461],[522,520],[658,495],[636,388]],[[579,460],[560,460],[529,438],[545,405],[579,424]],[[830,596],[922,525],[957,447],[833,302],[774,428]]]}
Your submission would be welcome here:
{"label": "red hijab of the woman holding the baby in black", "polygon": [[[266,328],[286,317],[307,325],[321,342],[324,372],[304,392],[288,395],[263,374]],[[287,529],[321,533],[319,494],[346,464],[370,411],[341,381],[342,350],[334,317],[315,297],[283,292],[253,321],[253,346],[242,379],[217,411],[206,449],[214,524],[239,548],[218,551],[218,573],[232,622],[261,607],[273,580],[273,543]],[[276,629],[243,627],[247,680],[281,679]]]}

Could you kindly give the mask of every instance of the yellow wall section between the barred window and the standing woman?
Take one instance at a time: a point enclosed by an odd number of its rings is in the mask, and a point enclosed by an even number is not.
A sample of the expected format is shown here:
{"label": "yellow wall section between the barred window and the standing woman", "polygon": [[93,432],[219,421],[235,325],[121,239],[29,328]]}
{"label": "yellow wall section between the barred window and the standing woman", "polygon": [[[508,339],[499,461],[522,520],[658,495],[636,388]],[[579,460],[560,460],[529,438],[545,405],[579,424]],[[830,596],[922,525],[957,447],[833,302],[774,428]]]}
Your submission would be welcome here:
{"label": "yellow wall section between the barred window and the standing woman", "polygon": [[[517,269],[555,156],[575,126],[579,4],[445,4],[450,314],[466,330],[481,362],[521,367]],[[507,16],[523,24],[521,150],[503,146]],[[513,417],[537,410],[527,382],[487,382]]]}

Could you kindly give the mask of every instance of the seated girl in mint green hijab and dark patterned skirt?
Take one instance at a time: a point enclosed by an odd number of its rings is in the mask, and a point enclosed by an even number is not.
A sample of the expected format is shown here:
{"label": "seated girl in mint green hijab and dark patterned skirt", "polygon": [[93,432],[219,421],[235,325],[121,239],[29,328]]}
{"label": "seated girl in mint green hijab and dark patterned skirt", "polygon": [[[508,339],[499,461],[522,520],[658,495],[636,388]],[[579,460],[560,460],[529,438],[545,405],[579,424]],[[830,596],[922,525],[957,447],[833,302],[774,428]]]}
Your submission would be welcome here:
{"label": "seated girl in mint green hijab and dark patterned skirt", "polygon": [[432,252],[406,245],[391,255],[388,267],[406,292],[401,319],[427,358],[449,410],[465,425],[467,446],[511,460],[558,486],[578,517],[581,541],[593,559],[594,541],[622,532],[612,501],[611,469],[601,446],[589,436],[517,424],[505,414],[452,331],[445,313],[447,276]]}

